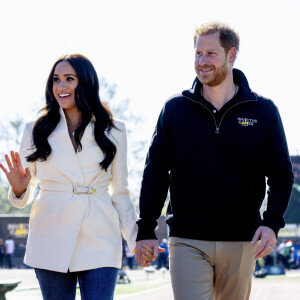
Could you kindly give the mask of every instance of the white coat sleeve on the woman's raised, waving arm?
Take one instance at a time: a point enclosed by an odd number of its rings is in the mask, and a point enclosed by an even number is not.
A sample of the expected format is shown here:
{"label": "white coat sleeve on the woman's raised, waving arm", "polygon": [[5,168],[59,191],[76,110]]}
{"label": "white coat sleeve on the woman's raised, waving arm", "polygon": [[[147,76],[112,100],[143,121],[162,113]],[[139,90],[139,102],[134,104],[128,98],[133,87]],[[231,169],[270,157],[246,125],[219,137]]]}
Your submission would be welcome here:
{"label": "white coat sleeve on the woman's raised, waving arm", "polygon": [[19,154],[23,168],[29,168],[31,179],[27,186],[26,191],[21,195],[20,198],[17,198],[12,188],[9,188],[8,191],[8,200],[9,202],[18,208],[23,208],[28,205],[34,199],[34,191],[36,187],[36,163],[27,162],[26,156],[34,152],[33,142],[32,142],[32,127],[33,123],[27,123],[24,129],[23,137],[20,144]]}

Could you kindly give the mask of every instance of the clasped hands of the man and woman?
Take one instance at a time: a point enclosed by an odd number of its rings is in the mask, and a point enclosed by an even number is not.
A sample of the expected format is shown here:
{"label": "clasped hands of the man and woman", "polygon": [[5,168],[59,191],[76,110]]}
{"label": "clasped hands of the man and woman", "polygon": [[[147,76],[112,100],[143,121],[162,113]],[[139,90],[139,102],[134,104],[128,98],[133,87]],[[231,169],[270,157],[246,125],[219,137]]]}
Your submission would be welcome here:
{"label": "clasped hands of the man and woman", "polygon": [[155,261],[158,252],[165,252],[166,249],[158,246],[157,240],[141,240],[136,243],[135,259],[138,264],[149,267],[150,261]]}

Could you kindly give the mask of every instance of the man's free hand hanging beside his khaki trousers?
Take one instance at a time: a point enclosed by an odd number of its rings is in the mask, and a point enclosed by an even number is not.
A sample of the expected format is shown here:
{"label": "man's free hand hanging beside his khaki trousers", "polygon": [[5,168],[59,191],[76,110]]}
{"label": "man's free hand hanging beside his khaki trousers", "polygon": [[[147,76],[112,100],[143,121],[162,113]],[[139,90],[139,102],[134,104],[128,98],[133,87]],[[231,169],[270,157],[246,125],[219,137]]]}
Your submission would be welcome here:
{"label": "man's free hand hanging beside his khaki trousers", "polygon": [[254,252],[255,259],[259,259],[271,253],[276,244],[275,232],[267,226],[260,226],[257,228],[251,244],[255,244],[259,239],[261,241]]}

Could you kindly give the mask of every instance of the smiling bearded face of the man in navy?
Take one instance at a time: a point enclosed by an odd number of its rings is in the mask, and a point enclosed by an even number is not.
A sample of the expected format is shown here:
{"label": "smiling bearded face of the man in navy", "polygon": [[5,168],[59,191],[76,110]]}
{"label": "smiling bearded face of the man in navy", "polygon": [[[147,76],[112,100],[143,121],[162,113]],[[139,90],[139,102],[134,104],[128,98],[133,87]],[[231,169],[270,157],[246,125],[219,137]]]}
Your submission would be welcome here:
{"label": "smiling bearded face of the man in navy", "polygon": [[219,32],[199,35],[195,44],[195,71],[200,82],[217,86],[229,70],[228,54],[220,44]]}

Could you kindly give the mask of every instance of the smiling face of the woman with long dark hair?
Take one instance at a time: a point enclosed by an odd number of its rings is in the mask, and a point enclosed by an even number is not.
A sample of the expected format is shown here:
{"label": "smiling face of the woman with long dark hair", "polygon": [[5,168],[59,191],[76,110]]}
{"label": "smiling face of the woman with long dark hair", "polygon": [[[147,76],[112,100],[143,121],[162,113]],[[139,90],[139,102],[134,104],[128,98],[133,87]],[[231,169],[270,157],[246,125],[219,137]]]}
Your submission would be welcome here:
{"label": "smiling face of the woman with long dark hair", "polygon": [[67,61],[58,63],[53,73],[52,91],[62,109],[77,109],[75,103],[75,90],[77,85],[77,74],[71,64]]}

